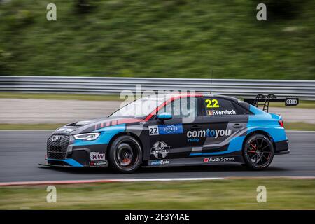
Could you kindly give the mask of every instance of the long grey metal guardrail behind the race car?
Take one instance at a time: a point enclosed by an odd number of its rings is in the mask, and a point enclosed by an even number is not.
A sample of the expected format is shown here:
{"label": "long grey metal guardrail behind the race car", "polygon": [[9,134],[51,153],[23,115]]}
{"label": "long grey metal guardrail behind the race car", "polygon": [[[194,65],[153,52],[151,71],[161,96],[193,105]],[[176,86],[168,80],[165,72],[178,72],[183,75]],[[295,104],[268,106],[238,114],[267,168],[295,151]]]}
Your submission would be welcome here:
{"label": "long grey metal guardrail behind the race car", "polygon": [[[123,90],[195,90],[209,92],[211,80],[202,78],[113,78],[66,76],[0,76],[0,91],[119,94]],[[235,97],[276,94],[315,99],[315,80],[213,79],[212,93]]]}

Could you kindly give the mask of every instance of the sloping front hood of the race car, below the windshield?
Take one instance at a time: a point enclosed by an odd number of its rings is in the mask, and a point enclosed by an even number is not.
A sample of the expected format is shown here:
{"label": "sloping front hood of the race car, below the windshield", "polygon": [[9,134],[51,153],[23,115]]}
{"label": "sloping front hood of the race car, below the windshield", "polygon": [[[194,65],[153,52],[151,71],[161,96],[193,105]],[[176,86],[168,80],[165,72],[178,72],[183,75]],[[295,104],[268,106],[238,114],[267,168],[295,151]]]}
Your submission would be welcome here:
{"label": "sloping front hood of the race car, below the windshield", "polygon": [[126,123],[139,123],[141,119],[115,117],[115,118],[98,118],[93,120],[80,120],[75,123],[70,123],[59,127],[53,134],[80,134],[87,132],[94,132],[104,127],[110,127],[113,125],[120,125]]}

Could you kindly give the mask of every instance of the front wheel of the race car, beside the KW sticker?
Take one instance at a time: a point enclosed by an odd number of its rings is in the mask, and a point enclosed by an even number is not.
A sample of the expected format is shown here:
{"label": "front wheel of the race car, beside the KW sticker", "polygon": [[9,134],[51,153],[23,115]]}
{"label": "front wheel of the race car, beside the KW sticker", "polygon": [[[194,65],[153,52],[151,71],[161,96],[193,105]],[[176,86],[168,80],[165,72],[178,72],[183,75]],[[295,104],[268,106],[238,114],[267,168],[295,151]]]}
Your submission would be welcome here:
{"label": "front wheel of the race car, beside the KW sticker", "polygon": [[135,172],[142,162],[142,148],[134,137],[120,136],[109,148],[109,166],[116,172]]}

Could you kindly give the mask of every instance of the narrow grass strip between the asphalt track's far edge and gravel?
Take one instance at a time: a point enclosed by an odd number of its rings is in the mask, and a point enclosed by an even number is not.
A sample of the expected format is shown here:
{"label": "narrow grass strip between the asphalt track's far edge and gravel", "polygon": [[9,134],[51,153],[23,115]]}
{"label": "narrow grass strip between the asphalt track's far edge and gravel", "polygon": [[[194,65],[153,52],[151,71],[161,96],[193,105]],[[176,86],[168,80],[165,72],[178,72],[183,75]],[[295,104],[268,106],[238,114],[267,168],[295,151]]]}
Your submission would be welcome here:
{"label": "narrow grass strip between the asphalt track's far edge and gravel", "polygon": [[[0,130],[55,130],[65,124],[0,124]],[[315,124],[285,123],[286,130],[315,131]]]}

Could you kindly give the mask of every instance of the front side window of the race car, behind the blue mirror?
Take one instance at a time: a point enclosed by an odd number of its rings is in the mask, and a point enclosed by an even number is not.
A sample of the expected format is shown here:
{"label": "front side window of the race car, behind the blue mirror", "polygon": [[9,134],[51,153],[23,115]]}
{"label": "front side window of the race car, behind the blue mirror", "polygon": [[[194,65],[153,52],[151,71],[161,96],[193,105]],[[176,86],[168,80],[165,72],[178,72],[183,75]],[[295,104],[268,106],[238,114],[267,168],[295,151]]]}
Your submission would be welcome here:
{"label": "front side window of the race car, behind the blue mirror", "polygon": [[197,116],[197,98],[176,99],[160,109],[158,114],[163,112],[171,113],[173,118],[195,118]]}

